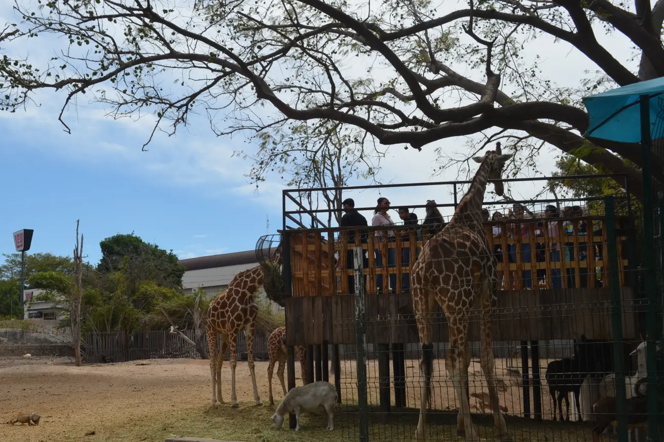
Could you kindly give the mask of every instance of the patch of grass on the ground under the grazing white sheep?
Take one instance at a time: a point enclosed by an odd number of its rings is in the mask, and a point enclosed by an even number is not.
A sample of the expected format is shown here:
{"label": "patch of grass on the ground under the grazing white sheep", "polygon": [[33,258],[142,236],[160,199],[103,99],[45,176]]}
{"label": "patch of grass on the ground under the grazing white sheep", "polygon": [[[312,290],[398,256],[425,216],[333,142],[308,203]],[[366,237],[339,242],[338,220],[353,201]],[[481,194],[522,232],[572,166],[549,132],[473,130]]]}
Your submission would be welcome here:
{"label": "patch of grass on the ground under the grazing white sheep", "polygon": [[[281,430],[274,429],[270,419],[275,407],[256,407],[240,404],[173,409],[159,413],[147,421],[116,422],[96,431],[95,441],[163,441],[173,436],[210,437],[226,441],[244,442],[290,442],[290,441],[356,441],[359,439],[357,409],[337,407],[335,430],[327,431],[327,416],[303,413],[300,417],[301,431],[288,429],[288,417]],[[373,407],[369,411],[369,439],[375,441],[415,440],[418,421],[416,409],[398,409],[394,413],[380,413]],[[473,415],[473,425],[480,439],[495,440],[497,433],[490,415]],[[540,442],[590,442],[592,424],[576,422],[543,421],[507,416],[507,427],[513,441]],[[427,431],[431,440],[463,442],[456,432],[455,412],[432,412],[427,417]],[[74,439],[72,439],[74,440]],[[91,440],[91,439],[81,439]]]}

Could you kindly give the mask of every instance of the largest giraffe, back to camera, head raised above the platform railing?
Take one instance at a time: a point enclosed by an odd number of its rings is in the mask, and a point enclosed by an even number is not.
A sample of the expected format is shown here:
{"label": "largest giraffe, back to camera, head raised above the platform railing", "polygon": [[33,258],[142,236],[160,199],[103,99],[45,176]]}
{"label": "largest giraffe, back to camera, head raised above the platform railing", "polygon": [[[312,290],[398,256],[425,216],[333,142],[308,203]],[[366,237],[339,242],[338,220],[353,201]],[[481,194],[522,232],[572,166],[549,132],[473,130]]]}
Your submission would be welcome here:
{"label": "largest giraffe, back to camera, head raised above the platform railing", "polygon": [[499,408],[498,390],[494,374],[493,348],[491,344],[491,317],[497,306],[497,270],[493,253],[482,226],[481,208],[487,180],[493,181],[495,193],[503,195],[501,173],[505,161],[512,155],[503,155],[500,143],[495,151],[487,151],[483,157],[473,157],[481,163],[468,191],[461,198],[454,216],[442,232],[432,237],[422,247],[413,265],[413,309],[422,344],[420,376],[422,377],[420,419],[416,437],[424,437],[426,404],[430,403],[433,361],[431,327],[428,323],[436,303],[440,305],[450,326],[450,345],[445,367],[450,376],[457,400],[457,433],[465,439],[477,441],[470,417],[468,398],[468,366],[470,364],[468,331],[469,314],[473,305],[481,311],[480,360],[487,378],[491,411],[501,440],[509,440],[505,418]]}

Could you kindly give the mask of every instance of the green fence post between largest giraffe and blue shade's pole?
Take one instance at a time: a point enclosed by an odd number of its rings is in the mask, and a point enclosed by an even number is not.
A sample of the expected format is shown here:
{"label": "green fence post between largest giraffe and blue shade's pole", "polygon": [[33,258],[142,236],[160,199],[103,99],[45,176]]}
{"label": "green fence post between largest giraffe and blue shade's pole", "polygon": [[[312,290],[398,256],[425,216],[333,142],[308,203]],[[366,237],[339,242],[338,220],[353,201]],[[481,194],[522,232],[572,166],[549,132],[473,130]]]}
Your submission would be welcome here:
{"label": "green fence post between largest giraffe and blue shade's pole", "polygon": [[616,241],[616,209],[613,196],[604,197],[606,215],[606,251],[608,253],[611,292],[611,325],[614,338],[614,372],[616,382],[616,416],[618,441],[627,442],[627,395],[625,394],[625,347],[622,334],[622,301],[618,277],[618,242]]}

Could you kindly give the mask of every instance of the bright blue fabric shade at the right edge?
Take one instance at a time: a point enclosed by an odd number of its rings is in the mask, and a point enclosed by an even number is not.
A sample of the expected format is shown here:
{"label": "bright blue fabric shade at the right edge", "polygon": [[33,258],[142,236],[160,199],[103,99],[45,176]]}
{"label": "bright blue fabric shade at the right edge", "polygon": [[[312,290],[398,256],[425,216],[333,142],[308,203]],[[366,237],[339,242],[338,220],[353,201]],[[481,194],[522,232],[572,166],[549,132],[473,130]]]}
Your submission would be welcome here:
{"label": "bright blue fabric shade at the right edge", "polygon": [[[590,125],[584,134],[618,141],[620,143],[641,142],[641,106],[642,95],[650,97],[650,135],[651,139],[661,138],[663,133],[654,133],[657,114],[664,111],[660,103],[664,102],[664,77],[655,78],[622,88],[591,95],[583,99]],[[659,124],[661,127],[661,123]]]}

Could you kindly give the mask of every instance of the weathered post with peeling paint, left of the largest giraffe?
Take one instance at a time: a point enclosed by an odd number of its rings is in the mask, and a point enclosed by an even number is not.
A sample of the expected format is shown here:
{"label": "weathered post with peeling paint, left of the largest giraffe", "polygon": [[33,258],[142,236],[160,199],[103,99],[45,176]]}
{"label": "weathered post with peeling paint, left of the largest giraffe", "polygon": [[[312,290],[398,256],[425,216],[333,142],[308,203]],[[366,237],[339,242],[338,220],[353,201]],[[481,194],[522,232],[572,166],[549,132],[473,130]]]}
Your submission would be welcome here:
{"label": "weathered post with peeling paint, left of the largest giraffe", "polygon": [[369,418],[367,416],[367,306],[365,305],[364,251],[355,248],[355,347],[357,354],[357,401],[359,402],[360,442],[369,441]]}

